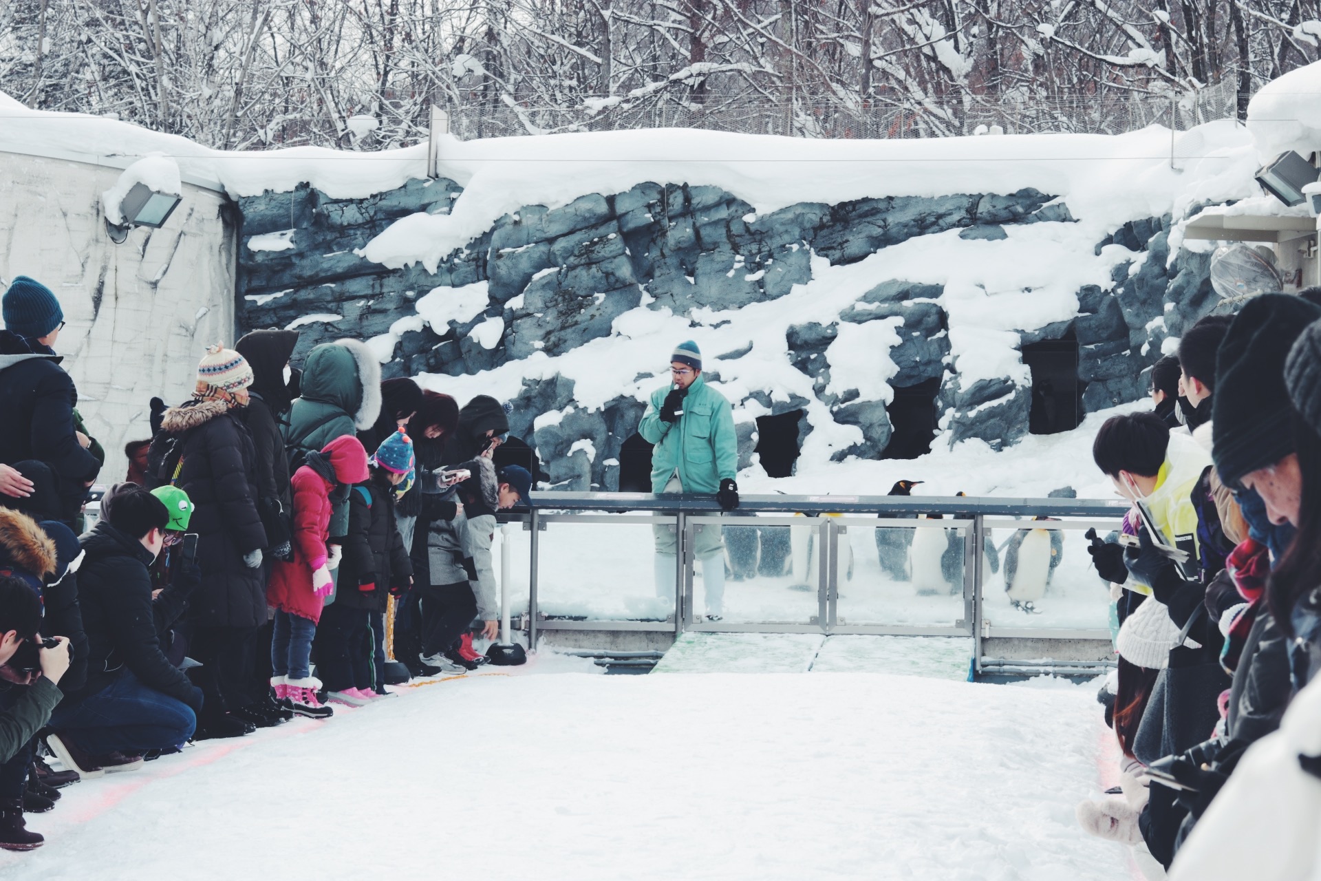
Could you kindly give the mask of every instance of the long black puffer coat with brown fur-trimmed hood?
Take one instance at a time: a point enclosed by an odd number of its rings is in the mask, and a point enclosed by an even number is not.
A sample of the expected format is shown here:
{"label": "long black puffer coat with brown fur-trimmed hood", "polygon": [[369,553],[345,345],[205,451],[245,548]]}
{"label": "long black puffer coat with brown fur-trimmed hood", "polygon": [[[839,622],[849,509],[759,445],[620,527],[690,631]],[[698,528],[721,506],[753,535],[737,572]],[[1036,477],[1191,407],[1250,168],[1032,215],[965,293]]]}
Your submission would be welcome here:
{"label": "long black puffer coat with brown fur-trimmed hood", "polygon": [[[266,580],[262,567],[248,568],[243,555],[266,549],[258,515],[256,452],[243,420],[223,402],[189,402],[165,411],[161,433],[152,441],[148,479],[160,479],[165,448],[182,440],[178,486],[196,510],[189,532],[197,532],[202,584],[189,602],[189,622],[202,627],[258,627],[266,623]],[[168,481],[168,477],[165,479]]]}

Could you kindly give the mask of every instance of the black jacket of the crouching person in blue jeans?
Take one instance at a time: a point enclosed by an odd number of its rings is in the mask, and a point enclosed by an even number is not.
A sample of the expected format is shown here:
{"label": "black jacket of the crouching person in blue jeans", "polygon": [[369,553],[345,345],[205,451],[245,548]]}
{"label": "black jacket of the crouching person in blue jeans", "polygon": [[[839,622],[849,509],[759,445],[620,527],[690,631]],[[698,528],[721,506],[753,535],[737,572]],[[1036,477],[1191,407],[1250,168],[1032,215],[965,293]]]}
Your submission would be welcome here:
{"label": "black jacket of the crouching person in blue jeans", "polygon": [[151,552],[107,520],[82,536],[82,548],[87,556],[78,569],[78,589],[89,643],[87,684],[70,697],[100,691],[127,667],[144,686],[194,705],[193,684],[166,660],[156,637],[147,572]]}

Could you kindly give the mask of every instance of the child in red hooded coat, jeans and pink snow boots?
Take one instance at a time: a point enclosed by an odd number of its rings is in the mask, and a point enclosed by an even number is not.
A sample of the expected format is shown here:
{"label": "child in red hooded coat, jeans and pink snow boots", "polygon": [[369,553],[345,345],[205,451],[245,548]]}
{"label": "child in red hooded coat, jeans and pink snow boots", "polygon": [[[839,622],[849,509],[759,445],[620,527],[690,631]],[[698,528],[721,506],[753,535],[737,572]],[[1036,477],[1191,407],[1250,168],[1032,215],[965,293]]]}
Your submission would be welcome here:
{"label": "child in red hooded coat, jeans and pink snow boots", "polygon": [[326,719],[334,711],[317,700],[321,683],[309,671],[312,638],[330,594],[330,494],[367,479],[367,450],[353,435],[336,437],[293,473],[293,560],[276,560],[266,598],[275,608],[271,684],[293,712]]}

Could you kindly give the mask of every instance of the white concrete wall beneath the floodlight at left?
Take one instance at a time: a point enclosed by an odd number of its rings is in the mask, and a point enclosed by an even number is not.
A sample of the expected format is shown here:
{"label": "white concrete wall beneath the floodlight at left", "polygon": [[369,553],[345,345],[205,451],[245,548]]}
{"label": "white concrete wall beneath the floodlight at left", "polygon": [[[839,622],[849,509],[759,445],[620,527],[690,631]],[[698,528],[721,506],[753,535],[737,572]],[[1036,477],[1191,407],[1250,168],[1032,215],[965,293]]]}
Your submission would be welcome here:
{"label": "white concrete wall beneath the floodlight at left", "polygon": [[106,448],[106,485],[124,479],[124,442],[149,437],[152,395],[184,400],[205,346],[234,345],[236,214],[225,195],[185,184],[164,227],[115,244],[100,194],[118,177],[116,168],[0,152],[0,281],[26,275],[59,299],[69,324],[55,350]]}

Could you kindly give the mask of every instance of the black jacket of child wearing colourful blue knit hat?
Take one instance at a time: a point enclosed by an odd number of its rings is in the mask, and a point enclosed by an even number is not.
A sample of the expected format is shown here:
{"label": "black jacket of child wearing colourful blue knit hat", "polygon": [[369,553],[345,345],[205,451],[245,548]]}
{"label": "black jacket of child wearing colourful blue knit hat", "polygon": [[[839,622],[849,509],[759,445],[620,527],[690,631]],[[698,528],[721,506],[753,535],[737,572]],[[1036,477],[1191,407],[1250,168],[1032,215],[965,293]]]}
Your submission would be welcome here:
{"label": "black jacket of child wearing colourful blue knit hat", "polygon": [[[408,584],[412,564],[395,528],[395,499],[379,469],[349,494],[349,535],[339,561],[336,602],[353,609],[384,612],[390,586]],[[373,590],[359,585],[374,584]]]}

